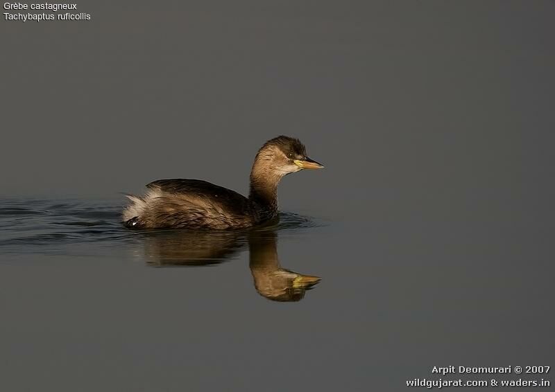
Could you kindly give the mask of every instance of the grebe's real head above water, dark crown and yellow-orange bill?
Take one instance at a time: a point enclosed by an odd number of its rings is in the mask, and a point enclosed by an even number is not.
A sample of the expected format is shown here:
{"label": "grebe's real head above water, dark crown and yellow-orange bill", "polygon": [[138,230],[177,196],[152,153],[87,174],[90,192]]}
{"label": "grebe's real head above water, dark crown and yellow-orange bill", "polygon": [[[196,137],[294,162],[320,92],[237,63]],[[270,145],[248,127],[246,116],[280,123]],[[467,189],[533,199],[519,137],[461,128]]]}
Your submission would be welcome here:
{"label": "grebe's real head above water, dark crown and yellow-orange bill", "polygon": [[307,157],[305,145],[299,139],[278,136],[268,140],[255,159],[253,174],[283,177],[302,169],[321,169],[324,166]]}

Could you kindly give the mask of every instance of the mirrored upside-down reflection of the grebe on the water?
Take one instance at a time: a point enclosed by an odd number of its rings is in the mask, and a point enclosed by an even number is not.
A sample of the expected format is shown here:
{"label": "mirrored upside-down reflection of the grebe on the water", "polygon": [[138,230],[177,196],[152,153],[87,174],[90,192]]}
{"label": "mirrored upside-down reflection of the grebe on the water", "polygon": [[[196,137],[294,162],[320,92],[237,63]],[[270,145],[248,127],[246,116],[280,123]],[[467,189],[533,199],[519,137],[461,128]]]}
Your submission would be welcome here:
{"label": "mirrored upside-down reflection of the grebe on the water", "polygon": [[154,267],[215,265],[248,245],[257,292],[272,301],[300,301],[321,279],[284,269],[278,259],[276,226],[250,231],[160,231],[145,238],[146,260]]}

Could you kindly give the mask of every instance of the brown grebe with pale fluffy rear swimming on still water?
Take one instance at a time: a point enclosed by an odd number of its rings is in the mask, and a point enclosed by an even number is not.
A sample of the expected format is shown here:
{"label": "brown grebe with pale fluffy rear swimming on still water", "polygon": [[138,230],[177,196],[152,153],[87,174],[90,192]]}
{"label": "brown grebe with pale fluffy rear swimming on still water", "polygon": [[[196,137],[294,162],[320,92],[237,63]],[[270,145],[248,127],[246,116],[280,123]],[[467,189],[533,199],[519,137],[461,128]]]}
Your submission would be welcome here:
{"label": "brown grebe with pale fluffy rear swimming on still water", "polygon": [[128,229],[246,229],[278,217],[278,184],[285,176],[324,166],[299,139],[278,136],[262,145],[250,171],[245,197],[199,179],[159,179],[142,196],[126,195]]}

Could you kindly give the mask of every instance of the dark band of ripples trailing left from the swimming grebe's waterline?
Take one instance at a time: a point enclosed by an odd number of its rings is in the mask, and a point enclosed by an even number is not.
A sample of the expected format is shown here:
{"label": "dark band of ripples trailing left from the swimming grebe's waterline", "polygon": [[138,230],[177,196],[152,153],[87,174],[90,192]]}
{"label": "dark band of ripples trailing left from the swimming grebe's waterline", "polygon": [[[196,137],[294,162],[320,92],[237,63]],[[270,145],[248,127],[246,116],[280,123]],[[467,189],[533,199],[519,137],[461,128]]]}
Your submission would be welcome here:
{"label": "dark band of ripples trailing left from the swimming grebe's waterline", "polygon": [[[0,253],[43,253],[51,249],[64,251],[78,244],[98,243],[104,247],[125,247],[149,238],[178,245],[191,238],[219,244],[246,242],[248,235],[323,226],[323,222],[296,213],[280,213],[279,219],[253,229],[198,231],[144,230],[130,231],[121,225],[122,206],[114,202],[83,200],[10,199],[0,200]],[[232,247],[235,248],[235,247]],[[221,255],[212,255],[216,260]]]}

